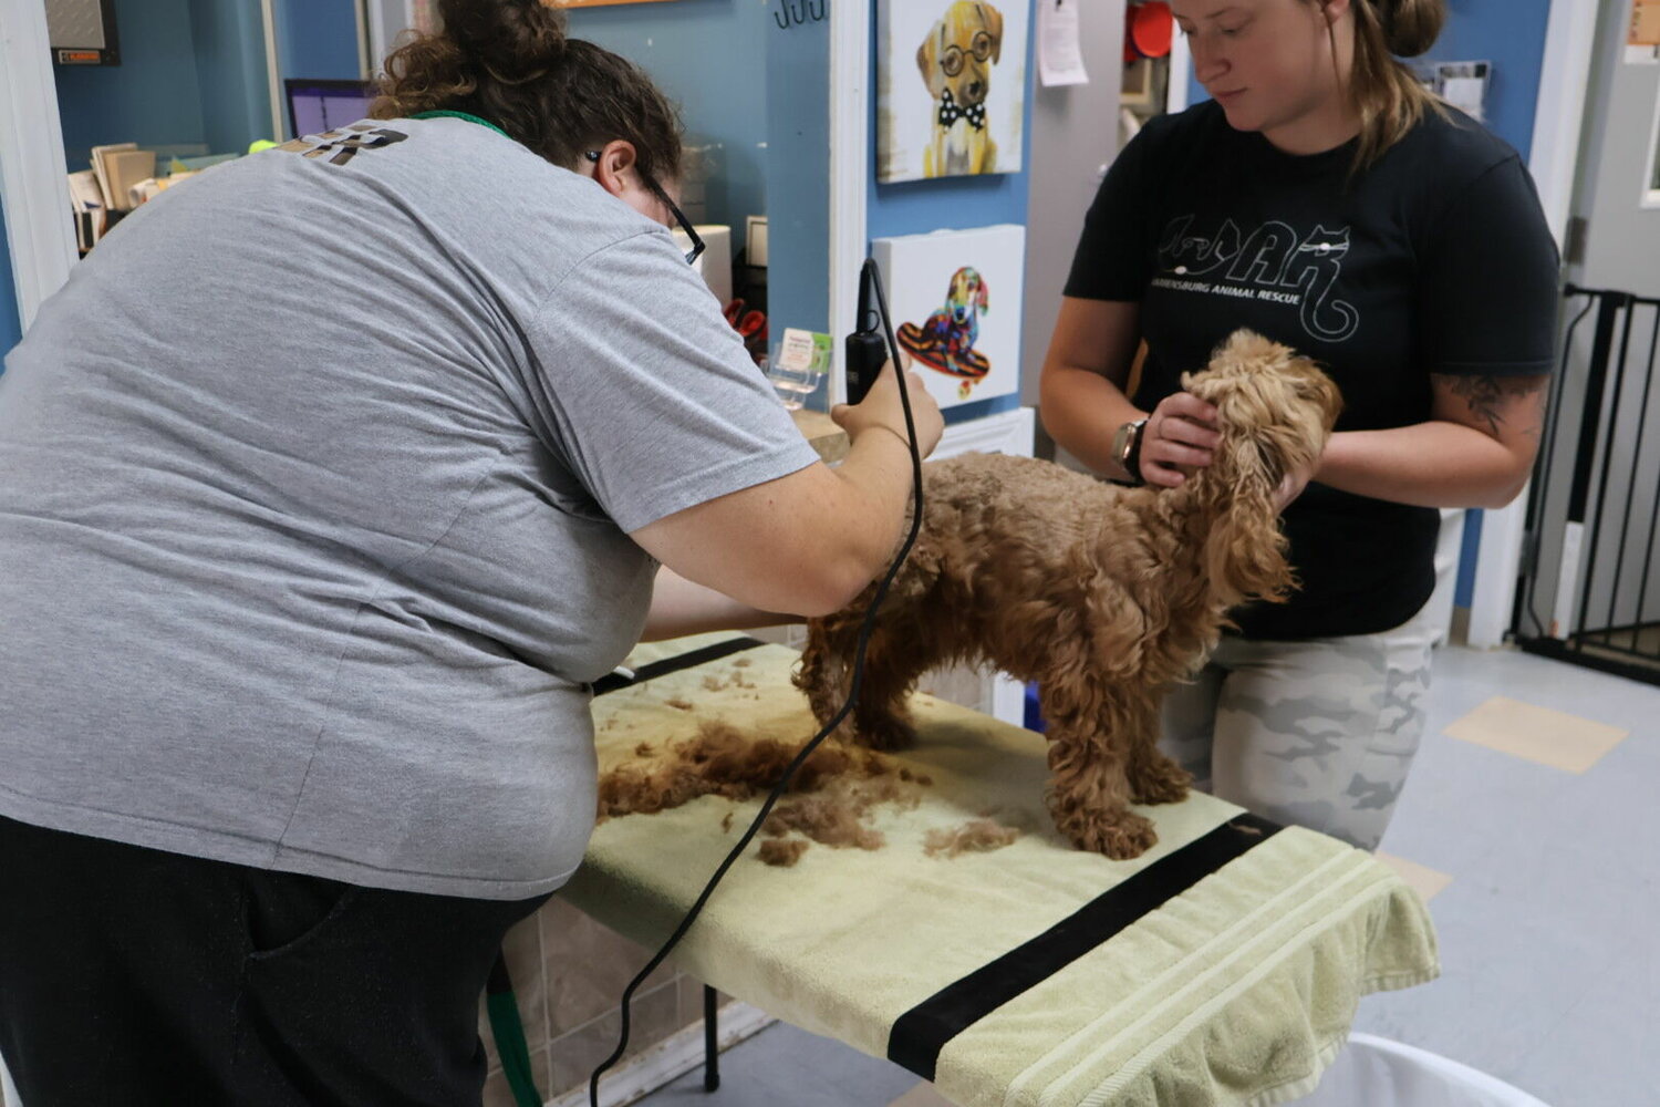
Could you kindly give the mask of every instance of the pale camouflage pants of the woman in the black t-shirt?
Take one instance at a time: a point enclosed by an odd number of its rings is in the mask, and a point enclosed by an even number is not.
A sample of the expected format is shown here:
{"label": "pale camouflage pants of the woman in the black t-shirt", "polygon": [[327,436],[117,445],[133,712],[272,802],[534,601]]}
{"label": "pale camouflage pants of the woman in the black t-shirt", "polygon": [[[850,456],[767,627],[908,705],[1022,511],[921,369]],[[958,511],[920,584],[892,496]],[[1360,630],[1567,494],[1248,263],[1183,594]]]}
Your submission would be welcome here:
{"label": "pale camouflage pants of the woman in the black t-shirt", "polygon": [[1383,634],[1225,636],[1165,700],[1159,749],[1200,790],[1376,850],[1424,730],[1433,632],[1423,611]]}

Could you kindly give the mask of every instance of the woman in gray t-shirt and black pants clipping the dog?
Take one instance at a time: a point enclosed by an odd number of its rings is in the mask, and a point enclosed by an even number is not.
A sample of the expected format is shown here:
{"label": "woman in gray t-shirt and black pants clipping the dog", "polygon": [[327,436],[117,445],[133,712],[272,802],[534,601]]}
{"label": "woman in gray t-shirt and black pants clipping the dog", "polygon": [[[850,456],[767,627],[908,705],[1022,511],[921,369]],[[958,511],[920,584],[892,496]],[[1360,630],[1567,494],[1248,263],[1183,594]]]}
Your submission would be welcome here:
{"label": "woman in gray t-shirt and black pants clipping the dog", "polygon": [[659,563],[682,614],[818,614],[898,544],[901,382],[825,468],[669,234],[662,95],[535,0],[440,7],[374,119],[143,206],[0,378],[32,1107],[476,1104]]}

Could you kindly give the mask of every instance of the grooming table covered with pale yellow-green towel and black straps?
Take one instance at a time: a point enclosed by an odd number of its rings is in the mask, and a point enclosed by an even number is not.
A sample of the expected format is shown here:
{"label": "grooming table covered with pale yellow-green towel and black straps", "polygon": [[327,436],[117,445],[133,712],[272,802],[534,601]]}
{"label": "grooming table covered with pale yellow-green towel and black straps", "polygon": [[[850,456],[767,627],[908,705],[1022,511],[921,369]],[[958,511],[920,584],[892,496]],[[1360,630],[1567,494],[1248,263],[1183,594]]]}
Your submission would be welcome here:
{"label": "grooming table covered with pale yellow-green towel and black straps", "polygon": [[[706,720],[807,739],[797,657],[732,634],[641,647],[637,682],[594,700],[601,770]],[[872,808],[886,845],[813,843],[775,868],[757,836],[676,949],[682,969],[963,1107],[1283,1102],[1315,1087],[1363,994],[1439,971],[1424,906],[1361,850],[1194,793],[1139,808],[1159,830],[1140,858],[1081,853],[1042,807],[1041,735],[928,695],[913,712],[916,747],[890,757],[931,785],[915,808]],[[611,818],[564,895],[656,949],[759,807]],[[930,830],[988,810],[1021,836],[925,853]]]}

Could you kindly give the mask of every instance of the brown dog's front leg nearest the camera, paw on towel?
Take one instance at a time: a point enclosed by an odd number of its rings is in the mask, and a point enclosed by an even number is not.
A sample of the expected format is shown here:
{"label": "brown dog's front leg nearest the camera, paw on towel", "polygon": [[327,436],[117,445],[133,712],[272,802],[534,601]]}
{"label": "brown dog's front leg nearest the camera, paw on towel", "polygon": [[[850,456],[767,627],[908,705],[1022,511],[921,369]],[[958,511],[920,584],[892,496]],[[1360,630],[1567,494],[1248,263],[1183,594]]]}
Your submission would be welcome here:
{"label": "brown dog's front leg nearest the camera, paw on towel", "polygon": [[1079,850],[1116,860],[1140,856],[1159,835],[1129,808],[1122,705],[1102,707],[1099,695],[1069,695],[1059,682],[1039,687],[1049,724],[1049,813],[1056,830]]}

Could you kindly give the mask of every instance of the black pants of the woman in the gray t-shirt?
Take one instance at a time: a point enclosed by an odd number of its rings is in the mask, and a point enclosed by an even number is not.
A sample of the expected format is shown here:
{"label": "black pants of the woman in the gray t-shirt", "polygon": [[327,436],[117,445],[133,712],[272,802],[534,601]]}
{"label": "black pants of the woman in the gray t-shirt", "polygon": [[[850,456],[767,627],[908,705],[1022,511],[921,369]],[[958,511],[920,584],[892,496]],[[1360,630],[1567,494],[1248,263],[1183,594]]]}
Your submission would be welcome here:
{"label": "black pants of the woman in the gray t-shirt", "polygon": [[382,891],[0,818],[23,1107],[476,1107],[478,997],[546,896]]}

